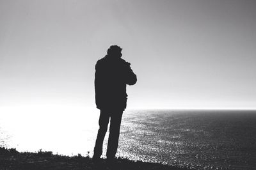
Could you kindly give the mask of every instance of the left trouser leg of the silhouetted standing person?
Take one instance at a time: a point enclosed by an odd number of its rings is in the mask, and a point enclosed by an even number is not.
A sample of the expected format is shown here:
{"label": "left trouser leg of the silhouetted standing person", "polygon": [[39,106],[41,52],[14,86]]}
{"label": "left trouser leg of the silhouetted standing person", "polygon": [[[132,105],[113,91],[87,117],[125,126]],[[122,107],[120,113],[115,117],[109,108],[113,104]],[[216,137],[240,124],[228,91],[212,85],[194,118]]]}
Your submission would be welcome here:
{"label": "left trouser leg of the silhouetted standing person", "polygon": [[98,135],[94,147],[93,159],[100,158],[102,154],[102,144],[104,141],[104,137],[108,130],[108,122],[109,122],[109,112],[100,110],[100,118],[99,118],[99,130]]}

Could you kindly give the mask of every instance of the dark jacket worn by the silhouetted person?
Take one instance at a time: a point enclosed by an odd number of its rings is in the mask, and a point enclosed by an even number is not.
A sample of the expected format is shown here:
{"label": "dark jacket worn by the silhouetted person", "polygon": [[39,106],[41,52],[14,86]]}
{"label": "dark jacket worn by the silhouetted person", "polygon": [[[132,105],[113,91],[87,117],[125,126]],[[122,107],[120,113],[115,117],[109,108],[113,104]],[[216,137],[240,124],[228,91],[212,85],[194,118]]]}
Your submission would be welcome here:
{"label": "dark jacket worn by the silhouetted person", "polygon": [[124,59],[113,59],[108,55],[95,65],[95,100],[98,109],[126,108],[126,84],[137,81],[130,63]]}

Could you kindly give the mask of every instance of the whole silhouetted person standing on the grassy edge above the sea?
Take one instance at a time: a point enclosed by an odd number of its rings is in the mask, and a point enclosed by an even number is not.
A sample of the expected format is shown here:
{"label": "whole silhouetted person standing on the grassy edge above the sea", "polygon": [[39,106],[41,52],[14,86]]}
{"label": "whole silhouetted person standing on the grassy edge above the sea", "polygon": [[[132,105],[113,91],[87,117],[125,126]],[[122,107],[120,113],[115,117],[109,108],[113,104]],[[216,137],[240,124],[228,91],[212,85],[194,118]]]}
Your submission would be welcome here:
{"label": "whole silhouetted person standing on the grassy edge above the sea", "polygon": [[122,57],[122,48],[111,45],[107,55],[95,65],[95,100],[100,109],[99,130],[95,142],[93,160],[102,155],[102,144],[108,130],[110,119],[107,160],[114,160],[118,148],[118,139],[123,111],[126,108],[126,84],[137,82],[131,64]]}

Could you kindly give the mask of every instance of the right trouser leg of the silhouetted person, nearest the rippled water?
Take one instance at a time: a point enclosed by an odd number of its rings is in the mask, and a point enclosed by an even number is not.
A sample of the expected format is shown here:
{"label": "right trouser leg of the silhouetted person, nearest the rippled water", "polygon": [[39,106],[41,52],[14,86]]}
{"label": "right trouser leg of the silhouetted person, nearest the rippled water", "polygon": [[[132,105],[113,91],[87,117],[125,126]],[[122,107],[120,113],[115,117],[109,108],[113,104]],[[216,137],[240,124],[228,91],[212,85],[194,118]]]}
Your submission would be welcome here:
{"label": "right trouser leg of the silhouetted person, nearest the rippled water", "polygon": [[118,148],[118,139],[119,139],[119,133],[120,133],[122,114],[123,114],[123,111],[111,112],[109,137],[108,137],[108,150],[107,150],[107,158],[109,160],[115,158],[116,151]]}

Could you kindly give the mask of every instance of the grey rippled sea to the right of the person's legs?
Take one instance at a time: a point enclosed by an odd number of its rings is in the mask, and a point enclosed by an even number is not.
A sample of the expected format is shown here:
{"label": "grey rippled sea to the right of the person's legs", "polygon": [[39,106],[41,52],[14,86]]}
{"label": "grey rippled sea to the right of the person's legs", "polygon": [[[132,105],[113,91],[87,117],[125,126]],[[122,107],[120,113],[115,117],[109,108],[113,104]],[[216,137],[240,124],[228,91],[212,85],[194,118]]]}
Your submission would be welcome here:
{"label": "grey rippled sea to the right of the person's legs", "polygon": [[255,111],[134,111],[119,154],[197,169],[255,169]]}

